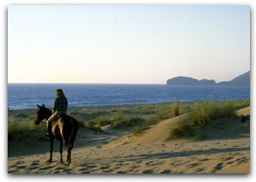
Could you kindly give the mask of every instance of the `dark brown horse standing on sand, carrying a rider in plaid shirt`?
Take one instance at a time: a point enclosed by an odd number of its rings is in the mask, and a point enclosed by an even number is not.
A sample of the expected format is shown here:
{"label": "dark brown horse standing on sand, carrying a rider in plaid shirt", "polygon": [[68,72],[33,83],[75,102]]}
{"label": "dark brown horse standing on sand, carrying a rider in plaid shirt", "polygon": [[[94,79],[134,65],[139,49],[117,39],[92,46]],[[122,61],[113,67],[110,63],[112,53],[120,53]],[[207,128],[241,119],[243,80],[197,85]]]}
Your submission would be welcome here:
{"label": "dark brown horse standing on sand, carrying a rider in plaid shirt", "polygon": [[[52,115],[50,109],[46,109],[45,104],[42,106],[37,105],[37,116],[34,119],[34,124],[39,125],[40,122],[44,119],[48,120]],[[59,139],[59,153],[60,153],[60,162],[63,162],[62,159],[62,145],[63,142],[68,150],[67,162],[71,162],[71,150],[73,148],[76,133],[78,131],[78,122],[75,118],[69,115],[61,115],[57,120],[52,122],[52,133],[54,138]],[[53,140],[50,138],[50,159],[49,162],[52,162],[52,150],[53,150]]]}

